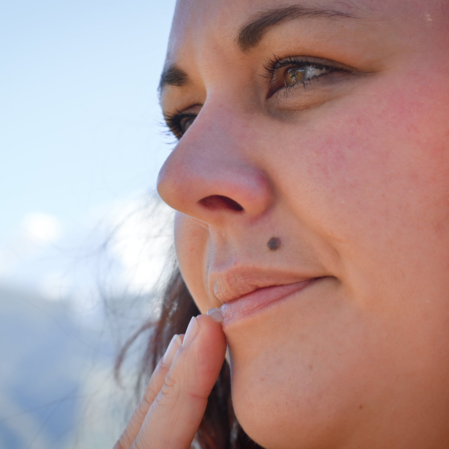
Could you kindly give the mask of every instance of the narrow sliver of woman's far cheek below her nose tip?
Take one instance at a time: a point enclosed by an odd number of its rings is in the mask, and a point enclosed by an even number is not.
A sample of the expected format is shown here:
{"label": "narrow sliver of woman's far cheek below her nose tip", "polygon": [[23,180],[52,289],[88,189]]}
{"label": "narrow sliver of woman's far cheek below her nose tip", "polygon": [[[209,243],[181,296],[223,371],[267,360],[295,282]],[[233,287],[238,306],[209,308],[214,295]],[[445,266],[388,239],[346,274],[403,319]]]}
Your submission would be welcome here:
{"label": "narrow sliver of woman's far cheek below her nose tip", "polygon": [[205,274],[209,248],[209,232],[188,216],[176,212],[175,249],[180,272],[201,313],[211,305],[207,298]]}

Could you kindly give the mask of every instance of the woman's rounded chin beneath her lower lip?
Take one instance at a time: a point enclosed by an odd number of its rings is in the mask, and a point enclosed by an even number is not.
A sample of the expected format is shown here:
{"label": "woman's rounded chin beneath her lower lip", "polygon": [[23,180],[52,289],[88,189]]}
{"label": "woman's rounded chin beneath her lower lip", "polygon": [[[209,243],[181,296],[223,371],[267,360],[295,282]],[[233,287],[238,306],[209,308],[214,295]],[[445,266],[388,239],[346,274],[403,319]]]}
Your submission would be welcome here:
{"label": "woman's rounded chin beneath her lower lip", "polygon": [[374,357],[361,343],[360,323],[335,319],[338,308],[329,308],[331,316],[320,310],[299,313],[291,303],[279,304],[266,311],[271,321],[264,312],[229,330],[233,408],[244,431],[264,448],[348,447],[365,415],[360,405],[372,403],[366,393],[372,393],[367,373]]}

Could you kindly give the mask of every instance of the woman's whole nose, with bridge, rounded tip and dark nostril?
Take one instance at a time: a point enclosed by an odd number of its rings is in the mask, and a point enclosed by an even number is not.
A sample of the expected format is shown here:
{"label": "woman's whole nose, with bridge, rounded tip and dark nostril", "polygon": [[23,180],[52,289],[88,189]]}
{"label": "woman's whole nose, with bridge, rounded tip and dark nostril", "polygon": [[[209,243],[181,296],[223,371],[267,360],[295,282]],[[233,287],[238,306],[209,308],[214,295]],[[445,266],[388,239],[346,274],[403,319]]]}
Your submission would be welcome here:
{"label": "woman's whole nose, with bridge, rounded tip and dark nostril", "polygon": [[158,193],[169,206],[208,225],[237,214],[260,216],[273,202],[256,142],[249,142],[244,119],[229,117],[204,105],[158,176]]}

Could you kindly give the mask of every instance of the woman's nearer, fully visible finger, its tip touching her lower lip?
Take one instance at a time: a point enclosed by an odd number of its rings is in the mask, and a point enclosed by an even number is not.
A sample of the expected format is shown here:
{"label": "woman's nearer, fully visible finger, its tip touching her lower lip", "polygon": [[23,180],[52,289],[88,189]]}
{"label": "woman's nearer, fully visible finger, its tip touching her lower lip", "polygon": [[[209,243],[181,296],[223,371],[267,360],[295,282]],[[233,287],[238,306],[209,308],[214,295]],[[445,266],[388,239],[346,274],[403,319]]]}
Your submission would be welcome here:
{"label": "woman's nearer, fully visible finger, its tip touching her lower lip", "polygon": [[190,447],[225,352],[221,324],[207,315],[192,318],[132,449]]}

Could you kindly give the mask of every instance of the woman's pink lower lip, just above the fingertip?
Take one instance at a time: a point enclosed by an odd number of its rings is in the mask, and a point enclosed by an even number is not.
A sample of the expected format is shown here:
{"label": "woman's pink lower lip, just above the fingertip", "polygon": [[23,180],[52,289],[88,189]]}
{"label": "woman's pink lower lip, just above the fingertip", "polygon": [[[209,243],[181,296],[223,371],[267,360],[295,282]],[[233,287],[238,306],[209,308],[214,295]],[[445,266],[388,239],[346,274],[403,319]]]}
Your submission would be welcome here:
{"label": "woman's pink lower lip, just above the fingertip", "polygon": [[249,317],[274,302],[281,301],[294,293],[304,290],[318,279],[321,278],[315,277],[307,281],[296,282],[295,284],[260,288],[240,298],[233,299],[221,306],[223,325],[230,324],[243,317]]}

